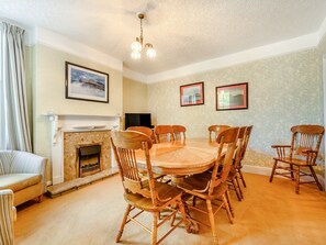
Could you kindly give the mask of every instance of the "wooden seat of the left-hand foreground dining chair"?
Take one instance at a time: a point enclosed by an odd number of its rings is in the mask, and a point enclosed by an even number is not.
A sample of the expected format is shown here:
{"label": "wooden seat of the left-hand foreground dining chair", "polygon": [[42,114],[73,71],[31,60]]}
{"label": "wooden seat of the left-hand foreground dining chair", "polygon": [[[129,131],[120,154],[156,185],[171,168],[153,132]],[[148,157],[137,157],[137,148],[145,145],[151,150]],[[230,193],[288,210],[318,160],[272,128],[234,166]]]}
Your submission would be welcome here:
{"label": "wooden seat of the left-hand foreground dining chair", "polygon": [[150,198],[144,198],[142,194],[138,193],[124,193],[124,199],[126,202],[137,209],[146,210],[149,212],[157,212],[169,204],[169,202],[176,199],[178,196],[181,196],[182,190],[177,187],[164,183],[164,182],[155,182],[156,191],[158,197],[164,199],[169,199],[167,202],[158,203],[154,205]]}

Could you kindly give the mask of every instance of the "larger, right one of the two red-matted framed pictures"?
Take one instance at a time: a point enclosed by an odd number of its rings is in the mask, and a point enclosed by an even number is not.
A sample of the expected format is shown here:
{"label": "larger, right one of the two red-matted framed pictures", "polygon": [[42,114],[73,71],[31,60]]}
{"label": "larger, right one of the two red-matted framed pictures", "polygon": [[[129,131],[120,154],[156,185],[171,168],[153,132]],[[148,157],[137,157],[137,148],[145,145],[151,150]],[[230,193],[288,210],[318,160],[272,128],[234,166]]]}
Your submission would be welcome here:
{"label": "larger, right one of the two red-matted framed pictures", "polygon": [[216,111],[248,109],[248,82],[216,87]]}

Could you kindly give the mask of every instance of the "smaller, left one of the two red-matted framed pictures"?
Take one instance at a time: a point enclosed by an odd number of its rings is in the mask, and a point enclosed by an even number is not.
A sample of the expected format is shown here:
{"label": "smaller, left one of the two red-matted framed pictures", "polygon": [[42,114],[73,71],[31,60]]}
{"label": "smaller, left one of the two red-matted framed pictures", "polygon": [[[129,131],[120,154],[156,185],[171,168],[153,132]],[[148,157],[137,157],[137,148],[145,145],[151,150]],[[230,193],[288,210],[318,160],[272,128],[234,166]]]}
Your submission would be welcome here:
{"label": "smaller, left one of the two red-matted framed pictures", "polygon": [[204,104],[204,82],[180,86],[180,105]]}

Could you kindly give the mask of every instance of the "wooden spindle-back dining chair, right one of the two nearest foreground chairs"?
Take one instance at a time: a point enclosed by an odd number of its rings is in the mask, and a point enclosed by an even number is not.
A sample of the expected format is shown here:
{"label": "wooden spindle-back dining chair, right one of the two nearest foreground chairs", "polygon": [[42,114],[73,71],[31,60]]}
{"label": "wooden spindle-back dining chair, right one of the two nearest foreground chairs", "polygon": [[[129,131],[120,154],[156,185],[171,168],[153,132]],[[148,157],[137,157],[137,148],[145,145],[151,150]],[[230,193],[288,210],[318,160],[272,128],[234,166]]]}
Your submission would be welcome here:
{"label": "wooden spindle-back dining chair, right one of the two nearest foreground chairs", "polygon": [[[209,215],[211,224],[209,226],[211,226],[212,229],[214,244],[218,243],[214,220],[214,215],[217,213],[217,211],[224,208],[226,210],[229,222],[233,223],[227,177],[234,159],[238,132],[239,127],[229,127],[217,135],[216,142],[218,146],[216,162],[210,176],[207,175],[207,172],[193,175],[186,178],[182,182],[178,183],[178,187],[182,188],[186,193],[202,199],[206,202],[206,209],[201,209],[198,205],[191,204],[187,204],[187,208],[189,210],[195,210]],[[218,166],[222,165],[222,163],[223,168],[222,171],[218,174]],[[222,200],[222,202],[217,203],[217,200]],[[216,207],[214,211],[213,207]],[[195,221],[200,224],[207,225],[200,220]]]}

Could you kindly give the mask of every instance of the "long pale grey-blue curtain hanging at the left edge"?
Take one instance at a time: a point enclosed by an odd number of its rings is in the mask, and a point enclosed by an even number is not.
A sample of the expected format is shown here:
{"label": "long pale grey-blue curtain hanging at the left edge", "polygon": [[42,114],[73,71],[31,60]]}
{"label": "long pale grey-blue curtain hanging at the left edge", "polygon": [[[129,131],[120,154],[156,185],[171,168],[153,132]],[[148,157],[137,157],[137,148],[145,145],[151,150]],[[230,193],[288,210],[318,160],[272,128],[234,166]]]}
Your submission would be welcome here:
{"label": "long pale grey-blue curtain hanging at the left edge", "polygon": [[23,34],[24,30],[0,22],[0,149],[32,152]]}

